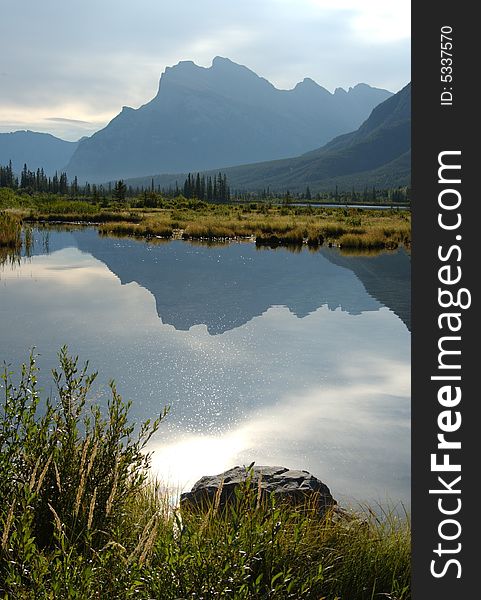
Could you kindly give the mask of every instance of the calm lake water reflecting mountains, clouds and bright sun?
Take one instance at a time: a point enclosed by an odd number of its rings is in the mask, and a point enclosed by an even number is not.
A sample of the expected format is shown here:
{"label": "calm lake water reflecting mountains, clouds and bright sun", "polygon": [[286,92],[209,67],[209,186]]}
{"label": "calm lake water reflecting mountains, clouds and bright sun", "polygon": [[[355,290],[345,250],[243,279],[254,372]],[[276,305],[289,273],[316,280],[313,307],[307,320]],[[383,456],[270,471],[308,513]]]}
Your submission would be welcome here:
{"label": "calm lake water reflecting mountains, clouds and bright sun", "polygon": [[184,489],[236,464],[320,477],[341,501],[410,496],[410,260],[35,230],[0,267],[0,360],[68,344],[133,401],[171,407],[153,466]]}

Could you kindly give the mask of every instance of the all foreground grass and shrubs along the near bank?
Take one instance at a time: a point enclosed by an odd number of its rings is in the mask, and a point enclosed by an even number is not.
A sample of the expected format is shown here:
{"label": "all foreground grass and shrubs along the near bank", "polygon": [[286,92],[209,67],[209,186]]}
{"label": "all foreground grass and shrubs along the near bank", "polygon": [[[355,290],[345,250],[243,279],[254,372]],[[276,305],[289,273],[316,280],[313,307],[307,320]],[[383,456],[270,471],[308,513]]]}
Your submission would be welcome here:
{"label": "all foreground grass and shrubs along the near bank", "polygon": [[113,383],[104,414],[95,374],[66,348],[59,360],[55,399],[33,357],[3,375],[1,598],[410,598],[407,517],[321,519],[260,502],[249,477],[225,511],[173,507],[145,453],[165,411],[136,432]]}

